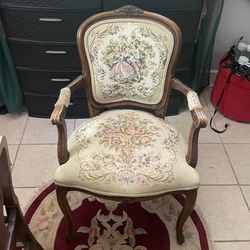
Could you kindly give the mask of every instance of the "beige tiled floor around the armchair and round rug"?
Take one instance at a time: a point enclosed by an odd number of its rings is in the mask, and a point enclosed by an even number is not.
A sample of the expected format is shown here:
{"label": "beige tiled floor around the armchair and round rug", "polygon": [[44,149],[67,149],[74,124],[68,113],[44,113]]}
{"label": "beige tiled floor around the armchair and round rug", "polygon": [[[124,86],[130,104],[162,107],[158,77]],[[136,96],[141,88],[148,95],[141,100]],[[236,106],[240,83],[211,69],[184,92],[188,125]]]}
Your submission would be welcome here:
{"label": "beige tiled floor around the armchair and round rug", "polygon": [[[208,118],[213,107],[211,88],[200,96]],[[215,124],[223,127],[226,118],[217,115]],[[191,116],[182,111],[168,121],[188,138]],[[69,134],[82,120],[68,120]],[[203,212],[216,250],[250,249],[250,124],[229,121],[222,135],[210,128],[201,132],[199,163],[201,176],[197,206]],[[57,131],[48,119],[19,115],[0,116],[0,134],[7,137],[13,182],[22,207],[39,188],[53,178],[57,167]]]}

